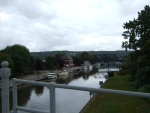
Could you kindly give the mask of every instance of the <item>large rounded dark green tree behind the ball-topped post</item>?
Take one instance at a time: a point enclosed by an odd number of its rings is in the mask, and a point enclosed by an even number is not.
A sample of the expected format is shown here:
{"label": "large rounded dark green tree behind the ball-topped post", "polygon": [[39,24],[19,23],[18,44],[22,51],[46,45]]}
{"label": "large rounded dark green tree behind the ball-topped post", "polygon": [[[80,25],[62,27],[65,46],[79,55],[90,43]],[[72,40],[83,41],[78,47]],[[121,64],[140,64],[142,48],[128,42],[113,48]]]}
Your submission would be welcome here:
{"label": "large rounded dark green tree behind the ball-topped post", "polygon": [[1,50],[1,53],[11,57],[14,64],[12,69],[14,77],[29,74],[33,71],[33,58],[25,46],[19,44],[7,46],[5,49]]}

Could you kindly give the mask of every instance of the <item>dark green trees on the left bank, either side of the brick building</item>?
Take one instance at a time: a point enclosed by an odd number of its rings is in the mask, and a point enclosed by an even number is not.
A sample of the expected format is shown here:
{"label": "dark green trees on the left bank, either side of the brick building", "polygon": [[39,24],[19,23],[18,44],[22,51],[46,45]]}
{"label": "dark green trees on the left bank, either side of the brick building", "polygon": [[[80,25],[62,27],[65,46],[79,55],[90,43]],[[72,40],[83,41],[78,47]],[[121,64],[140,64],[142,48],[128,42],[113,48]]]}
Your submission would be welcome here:
{"label": "dark green trees on the left bank, either side of the brick building", "polygon": [[[63,61],[60,59],[62,53],[50,55],[44,59],[31,55],[28,48],[23,45],[15,44],[0,50],[0,63],[4,60],[9,62],[11,77],[19,77],[33,74],[34,71],[51,70],[63,68]],[[72,57],[75,66],[80,66],[85,60],[95,63],[98,59],[94,58],[89,52],[81,52]]]}

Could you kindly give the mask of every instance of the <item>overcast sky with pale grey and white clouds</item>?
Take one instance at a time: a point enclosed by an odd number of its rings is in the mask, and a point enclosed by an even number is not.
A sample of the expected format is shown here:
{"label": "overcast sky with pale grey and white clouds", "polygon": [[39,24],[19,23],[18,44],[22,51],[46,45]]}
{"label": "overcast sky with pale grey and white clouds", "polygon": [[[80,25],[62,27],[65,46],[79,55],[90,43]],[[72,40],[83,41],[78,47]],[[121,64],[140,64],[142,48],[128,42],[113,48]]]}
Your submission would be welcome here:
{"label": "overcast sky with pale grey and white clouds", "polygon": [[0,0],[0,50],[121,50],[123,23],[150,0]]}

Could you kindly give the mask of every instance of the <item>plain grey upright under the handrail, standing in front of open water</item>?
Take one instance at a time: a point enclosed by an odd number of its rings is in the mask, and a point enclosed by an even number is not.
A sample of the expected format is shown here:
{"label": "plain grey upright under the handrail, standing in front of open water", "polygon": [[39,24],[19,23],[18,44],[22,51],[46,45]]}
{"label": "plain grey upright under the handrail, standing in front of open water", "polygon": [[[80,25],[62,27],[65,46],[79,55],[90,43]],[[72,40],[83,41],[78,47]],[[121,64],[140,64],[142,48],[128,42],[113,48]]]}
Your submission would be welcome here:
{"label": "plain grey upright under the handrail, standing in front of open water", "polygon": [[50,83],[50,113],[56,113],[55,83]]}

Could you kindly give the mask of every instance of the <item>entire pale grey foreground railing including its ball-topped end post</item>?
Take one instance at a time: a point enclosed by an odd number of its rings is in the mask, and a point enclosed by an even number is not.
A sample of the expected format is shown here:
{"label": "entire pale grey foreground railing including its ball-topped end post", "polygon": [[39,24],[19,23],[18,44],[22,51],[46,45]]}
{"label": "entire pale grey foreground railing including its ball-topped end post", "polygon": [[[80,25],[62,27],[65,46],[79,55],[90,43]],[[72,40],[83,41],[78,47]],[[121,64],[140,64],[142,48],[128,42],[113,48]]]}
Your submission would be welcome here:
{"label": "entire pale grey foreground railing including its ball-topped end post", "polygon": [[[7,82],[9,82],[10,69],[8,67],[7,62],[2,62],[2,67],[0,69],[0,76],[2,78],[2,113],[10,113],[9,111],[9,87]],[[128,95],[128,96],[137,96],[150,98],[149,93],[139,93],[139,92],[130,92],[130,91],[121,91],[121,90],[111,90],[111,89],[103,89],[103,88],[89,88],[89,87],[80,87],[80,86],[68,86],[62,84],[55,84],[54,82],[45,83],[45,82],[37,82],[37,81],[29,81],[29,80],[21,80],[21,79],[13,79],[12,80],[12,91],[13,91],[13,113],[17,113],[18,110],[27,111],[32,113],[49,113],[45,111],[39,111],[35,109],[30,109],[27,107],[18,106],[17,104],[17,84],[30,84],[37,86],[46,86],[49,87],[50,91],[50,113],[56,113],[56,101],[55,101],[55,88],[63,88],[63,89],[71,89],[71,90],[80,90],[80,91],[88,91],[88,92],[96,92],[96,93],[110,93],[110,94],[119,94],[119,95]],[[3,90],[6,89],[6,90]]]}

